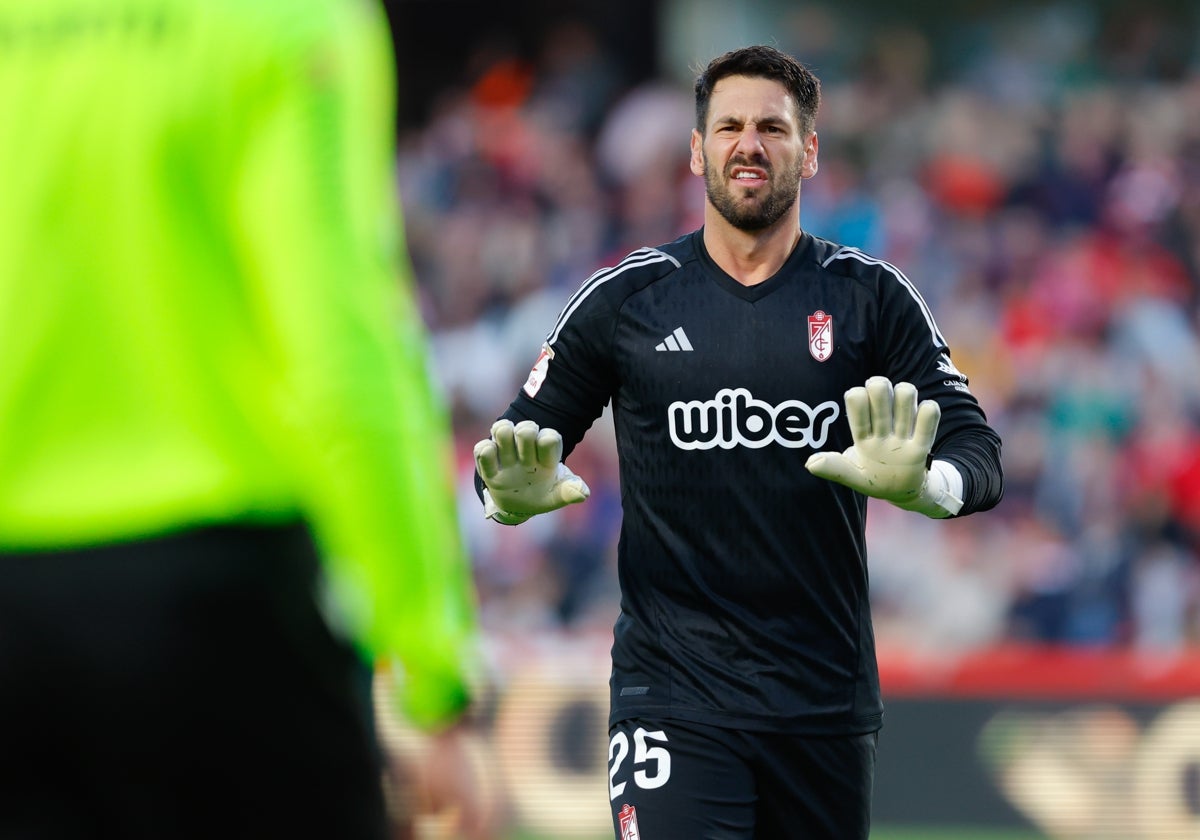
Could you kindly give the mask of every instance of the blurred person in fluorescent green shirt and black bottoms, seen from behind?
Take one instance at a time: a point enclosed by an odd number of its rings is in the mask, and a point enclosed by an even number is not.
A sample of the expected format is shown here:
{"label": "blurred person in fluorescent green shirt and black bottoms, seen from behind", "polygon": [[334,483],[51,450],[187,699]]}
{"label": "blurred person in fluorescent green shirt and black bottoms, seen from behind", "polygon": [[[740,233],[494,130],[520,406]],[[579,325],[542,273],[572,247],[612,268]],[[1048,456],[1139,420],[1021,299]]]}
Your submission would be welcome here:
{"label": "blurred person in fluorescent green shirt and black bottoms, seen from behind", "polygon": [[0,0],[0,836],[386,836],[379,661],[470,814],[390,49],[368,2]]}

